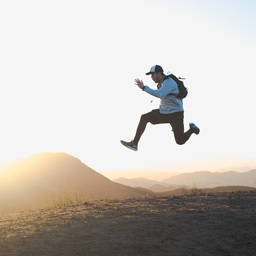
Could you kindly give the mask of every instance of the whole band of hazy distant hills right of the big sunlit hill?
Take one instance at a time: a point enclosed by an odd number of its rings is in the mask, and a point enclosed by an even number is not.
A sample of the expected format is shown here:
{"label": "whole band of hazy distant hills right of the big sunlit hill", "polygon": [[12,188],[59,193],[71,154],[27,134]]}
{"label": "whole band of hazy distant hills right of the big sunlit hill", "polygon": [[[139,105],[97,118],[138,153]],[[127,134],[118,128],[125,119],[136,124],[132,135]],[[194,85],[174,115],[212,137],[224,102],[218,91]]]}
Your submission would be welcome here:
{"label": "whole band of hazy distant hills right of the big sunlit hill", "polygon": [[162,180],[149,180],[145,178],[118,178],[115,182],[132,187],[143,187],[154,192],[164,192],[182,186],[198,186],[200,188],[213,188],[216,186],[251,186],[256,187],[256,170],[247,172],[189,172],[182,173]]}

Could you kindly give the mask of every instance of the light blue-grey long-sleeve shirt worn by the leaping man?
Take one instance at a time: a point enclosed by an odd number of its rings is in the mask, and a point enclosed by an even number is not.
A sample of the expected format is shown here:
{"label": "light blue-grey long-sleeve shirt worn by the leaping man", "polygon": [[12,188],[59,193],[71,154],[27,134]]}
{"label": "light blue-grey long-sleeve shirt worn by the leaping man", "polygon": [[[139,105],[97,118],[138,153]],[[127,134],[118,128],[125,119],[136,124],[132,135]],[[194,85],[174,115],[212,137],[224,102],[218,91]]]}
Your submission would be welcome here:
{"label": "light blue-grey long-sleeve shirt worn by the leaping man", "polygon": [[[184,111],[182,99],[178,99],[177,97],[175,97],[175,95],[179,93],[177,83],[170,77],[169,79],[166,79],[164,81],[163,78],[159,83],[159,90],[153,90],[148,86],[145,86],[144,91],[152,96],[160,98],[160,113],[169,114]],[[169,95],[170,93],[174,95]]]}

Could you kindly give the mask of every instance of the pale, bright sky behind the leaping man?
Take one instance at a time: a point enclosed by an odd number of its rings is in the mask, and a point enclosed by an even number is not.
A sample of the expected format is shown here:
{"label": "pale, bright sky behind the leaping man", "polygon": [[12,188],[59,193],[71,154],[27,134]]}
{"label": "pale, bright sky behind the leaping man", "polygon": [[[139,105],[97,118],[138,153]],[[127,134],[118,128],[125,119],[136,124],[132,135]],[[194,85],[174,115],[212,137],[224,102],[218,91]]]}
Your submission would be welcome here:
{"label": "pale, bright sky behind the leaping man", "polygon": [[[66,152],[96,171],[175,171],[255,159],[255,13],[250,0],[1,1],[0,163]],[[120,140],[159,107],[134,79],[155,88],[156,64],[186,78],[184,128],[201,131],[177,145],[170,125],[148,124],[131,151]]]}

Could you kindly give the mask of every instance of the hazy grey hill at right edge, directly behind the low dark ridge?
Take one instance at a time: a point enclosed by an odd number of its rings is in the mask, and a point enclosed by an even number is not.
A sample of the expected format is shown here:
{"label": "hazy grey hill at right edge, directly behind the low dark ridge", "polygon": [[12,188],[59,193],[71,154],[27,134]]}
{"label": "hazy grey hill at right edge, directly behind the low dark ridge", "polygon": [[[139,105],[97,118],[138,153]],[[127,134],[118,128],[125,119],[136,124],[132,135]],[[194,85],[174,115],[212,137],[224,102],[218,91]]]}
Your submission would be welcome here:
{"label": "hazy grey hill at right edge, directly behind the low dark ridge", "polygon": [[190,172],[173,176],[163,182],[198,187],[253,186],[256,187],[256,170],[248,172]]}

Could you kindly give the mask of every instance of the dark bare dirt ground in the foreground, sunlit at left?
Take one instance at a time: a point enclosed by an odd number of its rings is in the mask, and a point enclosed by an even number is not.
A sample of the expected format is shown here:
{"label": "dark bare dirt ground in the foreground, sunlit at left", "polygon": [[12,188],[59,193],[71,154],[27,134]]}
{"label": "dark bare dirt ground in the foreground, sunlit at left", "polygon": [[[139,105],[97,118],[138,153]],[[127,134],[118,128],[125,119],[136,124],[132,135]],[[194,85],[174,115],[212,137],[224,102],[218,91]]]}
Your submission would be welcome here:
{"label": "dark bare dirt ground in the foreground, sunlit at left", "polygon": [[93,201],[0,215],[4,256],[254,256],[256,191]]}

